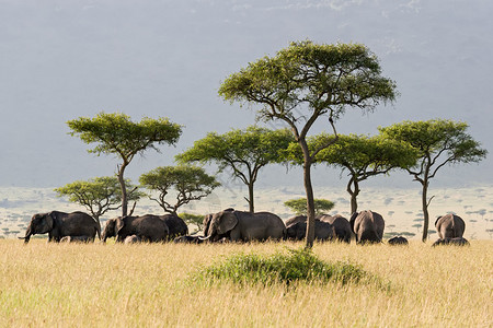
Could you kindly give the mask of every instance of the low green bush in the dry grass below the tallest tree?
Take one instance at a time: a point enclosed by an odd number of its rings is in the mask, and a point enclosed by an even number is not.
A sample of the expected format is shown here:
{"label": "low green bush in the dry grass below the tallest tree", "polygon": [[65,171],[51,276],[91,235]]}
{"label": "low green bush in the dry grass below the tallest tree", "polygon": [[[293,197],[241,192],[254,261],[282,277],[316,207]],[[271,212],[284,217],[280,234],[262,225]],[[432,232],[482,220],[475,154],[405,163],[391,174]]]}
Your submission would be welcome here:
{"label": "low green bush in the dry grass below the tallest tree", "polygon": [[229,280],[234,283],[290,284],[296,281],[362,283],[374,277],[359,266],[337,261],[328,263],[309,249],[289,249],[289,254],[271,256],[255,254],[236,255],[225,262],[205,268],[198,272],[200,280]]}

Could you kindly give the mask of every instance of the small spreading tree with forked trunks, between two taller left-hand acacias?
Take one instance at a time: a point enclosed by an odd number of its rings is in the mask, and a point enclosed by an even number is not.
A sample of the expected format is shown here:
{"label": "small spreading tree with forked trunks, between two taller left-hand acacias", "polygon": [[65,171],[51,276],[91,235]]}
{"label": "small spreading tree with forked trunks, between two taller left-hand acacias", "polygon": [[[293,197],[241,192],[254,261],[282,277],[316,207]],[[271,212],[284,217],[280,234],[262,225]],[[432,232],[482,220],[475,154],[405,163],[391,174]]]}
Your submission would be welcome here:
{"label": "small spreading tree with forked trunks, between two taller left-hand acacias", "polygon": [[[158,198],[149,198],[169,213],[176,213],[181,206],[199,200],[220,186],[216,178],[207,175],[202,167],[187,165],[157,167],[142,174],[139,181],[145,188],[159,192]],[[176,191],[174,204],[165,200],[171,189]]]}

